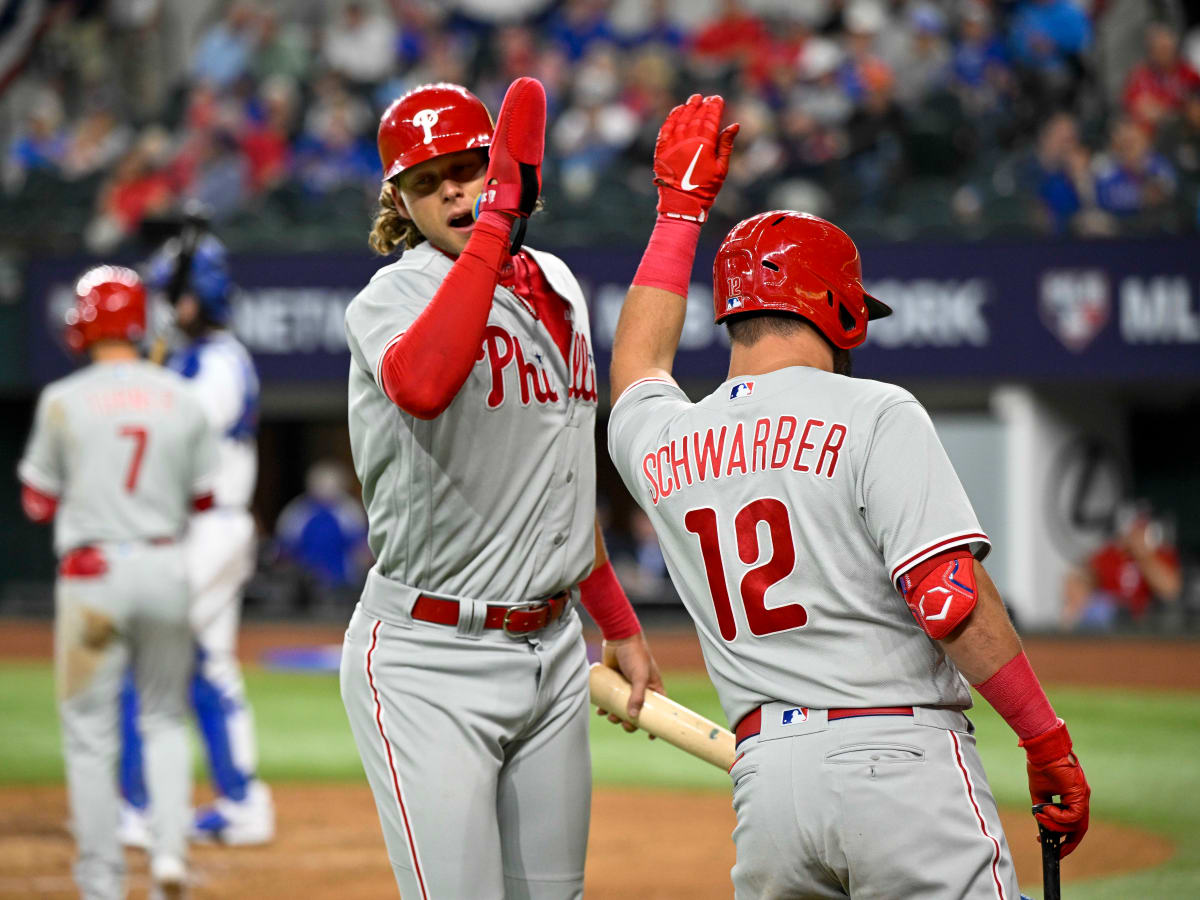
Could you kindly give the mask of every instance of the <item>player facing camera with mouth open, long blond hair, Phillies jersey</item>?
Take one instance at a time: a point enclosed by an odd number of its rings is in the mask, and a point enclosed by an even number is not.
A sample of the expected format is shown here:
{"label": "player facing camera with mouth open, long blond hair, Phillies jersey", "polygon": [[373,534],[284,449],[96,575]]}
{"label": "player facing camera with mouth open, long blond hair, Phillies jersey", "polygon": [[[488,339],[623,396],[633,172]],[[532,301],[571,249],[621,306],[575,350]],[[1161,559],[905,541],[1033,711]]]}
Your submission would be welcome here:
{"label": "player facing camera with mouth open, long blond hair, Phillies jersey", "polygon": [[407,251],[346,313],[377,562],[341,684],[406,898],[582,895],[592,778],[576,599],[634,684],[630,707],[661,689],[595,522],[583,295],[559,259],[510,239],[541,187],[545,122],[541,84],[520,78],[494,133],[451,84],[410,91],[379,125],[371,244]]}

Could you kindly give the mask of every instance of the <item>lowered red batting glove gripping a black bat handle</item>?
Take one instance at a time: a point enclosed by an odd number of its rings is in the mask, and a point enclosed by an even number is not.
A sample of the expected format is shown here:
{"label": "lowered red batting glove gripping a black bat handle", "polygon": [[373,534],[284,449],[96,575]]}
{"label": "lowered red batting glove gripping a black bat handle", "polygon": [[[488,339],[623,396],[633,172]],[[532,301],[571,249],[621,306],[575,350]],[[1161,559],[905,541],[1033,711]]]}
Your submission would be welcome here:
{"label": "lowered red batting glove gripping a black bat handle", "polygon": [[1070,749],[1070,734],[1062,719],[1050,731],[1020,742],[1025,748],[1025,768],[1030,776],[1030,797],[1034,803],[1052,803],[1055,796],[1066,809],[1045,806],[1034,818],[1067,839],[1058,848],[1058,858],[1070,853],[1087,834],[1088,798],[1084,769]]}

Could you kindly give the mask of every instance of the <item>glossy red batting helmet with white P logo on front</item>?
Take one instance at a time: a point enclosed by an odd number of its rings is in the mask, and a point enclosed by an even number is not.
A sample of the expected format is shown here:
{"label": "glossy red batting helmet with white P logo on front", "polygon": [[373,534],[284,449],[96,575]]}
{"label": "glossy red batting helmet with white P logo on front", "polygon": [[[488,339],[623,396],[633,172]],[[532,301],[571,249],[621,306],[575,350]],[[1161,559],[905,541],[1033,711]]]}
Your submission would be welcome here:
{"label": "glossy red batting helmet with white P logo on front", "polygon": [[486,148],[492,116],[457,84],[422,84],[392,101],[379,120],[379,160],[386,181],[434,156]]}

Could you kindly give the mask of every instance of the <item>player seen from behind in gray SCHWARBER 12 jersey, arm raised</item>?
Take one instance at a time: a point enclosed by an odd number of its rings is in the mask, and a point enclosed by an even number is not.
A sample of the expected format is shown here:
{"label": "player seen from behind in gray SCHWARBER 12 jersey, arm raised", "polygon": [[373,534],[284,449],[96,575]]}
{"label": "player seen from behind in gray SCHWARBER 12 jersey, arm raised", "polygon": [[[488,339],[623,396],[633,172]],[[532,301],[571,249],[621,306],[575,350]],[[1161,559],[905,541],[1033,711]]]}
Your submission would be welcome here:
{"label": "player seen from behind in gray SCHWARBER 12 jersey, arm raised", "polygon": [[1009,898],[1016,876],[964,710],[967,682],[1027,754],[1038,820],[1087,830],[1090,790],[996,588],[922,406],[850,378],[858,251],[822,218],[733,228],[713,270],[730,377],[671,378],[701,222],[737,126],[691,97],[659,133],[659,220],[612,359],[608,446],[696,620],[738,756],[738,898]]}

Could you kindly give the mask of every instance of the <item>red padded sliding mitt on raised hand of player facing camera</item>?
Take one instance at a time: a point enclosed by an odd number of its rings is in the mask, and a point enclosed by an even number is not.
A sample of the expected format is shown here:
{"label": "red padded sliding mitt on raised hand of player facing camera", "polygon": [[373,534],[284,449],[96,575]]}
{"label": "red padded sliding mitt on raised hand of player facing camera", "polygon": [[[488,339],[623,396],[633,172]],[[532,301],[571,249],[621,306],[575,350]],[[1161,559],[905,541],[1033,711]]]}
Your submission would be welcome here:
{"label": "red padded sliding mitt on raised hand of player facing camera", "polygon": [[494,210],[528,218],[541,193],[546,150],[546,89],[536,78],[509,85],[488,148],[487,181],[475,200],[475,218]]}

